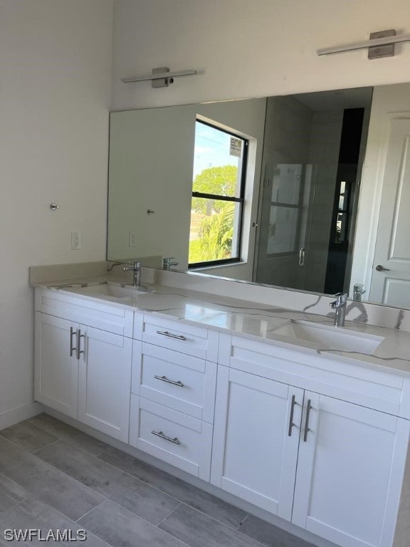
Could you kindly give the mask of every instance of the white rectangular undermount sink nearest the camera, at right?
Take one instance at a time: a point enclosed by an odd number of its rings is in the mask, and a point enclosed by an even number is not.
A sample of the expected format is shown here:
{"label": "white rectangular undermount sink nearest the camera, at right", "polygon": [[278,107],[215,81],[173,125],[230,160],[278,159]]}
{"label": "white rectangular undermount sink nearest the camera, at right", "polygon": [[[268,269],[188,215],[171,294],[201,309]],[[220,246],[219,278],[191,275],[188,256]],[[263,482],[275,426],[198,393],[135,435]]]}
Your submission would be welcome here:
{"label": "white rectangular undermount sink nearest the camera, at right", "polygon": [[274,335],[315,343],[318,349],[352,351],[367,355],[371,355],[384,340],[381,336],[356,333],[344,328],[318,325],[309,321],[291,321],[271,332]]}

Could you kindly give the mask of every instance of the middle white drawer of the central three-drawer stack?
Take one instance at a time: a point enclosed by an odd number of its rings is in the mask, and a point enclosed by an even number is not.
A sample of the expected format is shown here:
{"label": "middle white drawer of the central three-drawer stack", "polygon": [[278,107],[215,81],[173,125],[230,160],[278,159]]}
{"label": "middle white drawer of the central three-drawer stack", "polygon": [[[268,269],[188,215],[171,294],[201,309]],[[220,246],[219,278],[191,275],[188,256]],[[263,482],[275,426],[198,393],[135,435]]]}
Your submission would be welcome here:
{"label": "middle white drawer of the central three-drawer stack", "polygon": [[190,416],[213,422],[216,363],[134,341],[132,392]]}

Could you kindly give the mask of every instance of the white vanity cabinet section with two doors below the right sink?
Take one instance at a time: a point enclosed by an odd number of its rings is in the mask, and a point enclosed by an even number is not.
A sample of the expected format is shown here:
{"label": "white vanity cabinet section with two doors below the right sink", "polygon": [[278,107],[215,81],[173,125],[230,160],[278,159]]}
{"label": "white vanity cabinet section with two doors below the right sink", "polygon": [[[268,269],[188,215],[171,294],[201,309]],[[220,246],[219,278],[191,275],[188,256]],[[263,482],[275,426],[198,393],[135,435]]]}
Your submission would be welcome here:
{"label": "white vanity cabinet section with two doors below the right sink", "polygon": [[[230,338],[211,482],[342,547],[391,547],[410,422],[375,409],[399,402],[401,378]],[[374,408],[355,402],[372,392]]]}

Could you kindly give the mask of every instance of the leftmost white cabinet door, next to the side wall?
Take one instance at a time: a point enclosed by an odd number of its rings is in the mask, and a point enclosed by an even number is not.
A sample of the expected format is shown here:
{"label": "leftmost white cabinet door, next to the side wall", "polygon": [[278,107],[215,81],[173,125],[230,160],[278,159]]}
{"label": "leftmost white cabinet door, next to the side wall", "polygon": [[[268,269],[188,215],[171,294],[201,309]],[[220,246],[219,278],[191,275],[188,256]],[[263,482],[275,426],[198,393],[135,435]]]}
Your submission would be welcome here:
{"label": "leftmost white cabinet door, next to the side wall", "polygon": [[70,348],[77,343],[76,331],[76,323],[36,312],[34,397],[73,418],[77,417],[78,361]]}

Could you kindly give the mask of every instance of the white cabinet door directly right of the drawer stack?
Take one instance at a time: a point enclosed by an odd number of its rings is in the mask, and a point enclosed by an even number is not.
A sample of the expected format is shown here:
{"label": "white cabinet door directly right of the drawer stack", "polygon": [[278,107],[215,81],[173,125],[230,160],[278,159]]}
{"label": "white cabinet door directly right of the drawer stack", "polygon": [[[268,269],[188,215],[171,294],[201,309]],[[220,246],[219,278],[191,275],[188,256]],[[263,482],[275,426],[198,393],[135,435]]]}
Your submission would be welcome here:
{"label": "white cabinet door directly right of the drawer stack", "polygon": [[220,366],[211,483],[290,520],[302,405],[303,390]]}

